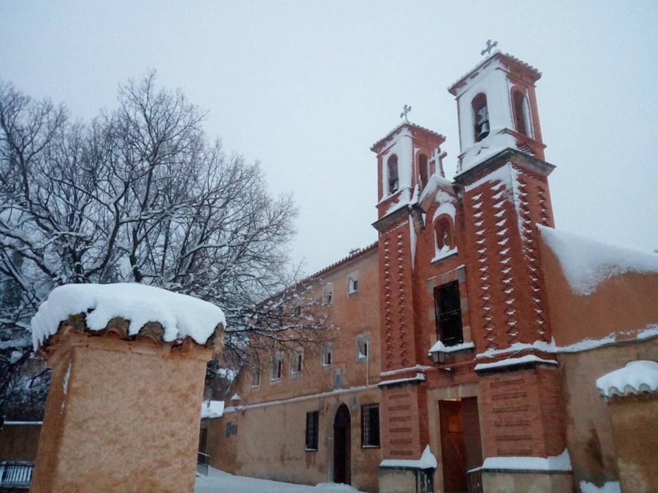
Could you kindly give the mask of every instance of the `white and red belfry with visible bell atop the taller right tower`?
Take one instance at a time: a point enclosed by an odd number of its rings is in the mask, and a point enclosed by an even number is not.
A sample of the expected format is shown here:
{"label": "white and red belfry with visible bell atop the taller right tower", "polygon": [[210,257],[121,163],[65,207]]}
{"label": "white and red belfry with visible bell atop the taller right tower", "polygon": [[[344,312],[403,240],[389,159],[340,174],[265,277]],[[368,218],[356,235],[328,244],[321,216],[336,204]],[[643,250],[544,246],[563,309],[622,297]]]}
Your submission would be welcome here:
{"label": "white and red belfry with visible bell atop the taller right tower", "polygon": [[496,51],[448,89],[459,114],[458,173],[503,149],[544,160],[535,82],[536,68]]}

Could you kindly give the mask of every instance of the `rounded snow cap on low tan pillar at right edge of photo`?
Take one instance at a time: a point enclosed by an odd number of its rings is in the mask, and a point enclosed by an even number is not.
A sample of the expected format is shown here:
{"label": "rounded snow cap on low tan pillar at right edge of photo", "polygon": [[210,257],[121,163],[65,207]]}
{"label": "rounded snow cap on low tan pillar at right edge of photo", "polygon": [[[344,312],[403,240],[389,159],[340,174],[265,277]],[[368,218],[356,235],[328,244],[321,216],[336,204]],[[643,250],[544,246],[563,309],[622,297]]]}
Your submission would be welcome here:
{"label": "rounded snow cap on low tan pillar at right edge of photo", "polygon": [[596,379],[596,388],[604,397],[658,392],[658,363],[643,359],[626,363]]}

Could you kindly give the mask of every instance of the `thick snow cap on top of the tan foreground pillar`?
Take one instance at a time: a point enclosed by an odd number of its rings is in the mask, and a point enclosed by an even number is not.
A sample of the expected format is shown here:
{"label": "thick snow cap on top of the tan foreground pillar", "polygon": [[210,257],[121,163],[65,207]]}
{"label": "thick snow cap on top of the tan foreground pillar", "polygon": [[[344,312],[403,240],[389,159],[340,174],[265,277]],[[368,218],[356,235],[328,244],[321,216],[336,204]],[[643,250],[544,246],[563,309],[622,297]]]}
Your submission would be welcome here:
{"label": "thick snow cap on top of the tan foreground pillar", "polygon": [[77,314],[86,314],[86,326],[93,331],[105,329],[112,318],[129,320],[131,336],[147,323],[157,322],[167,342],[189,336],[205,344],[217,325],[226,328],[219,307],[185,294],[137,283],[66,284],[53,289],[32,317],[35,351],[57,332],[60,322]]}

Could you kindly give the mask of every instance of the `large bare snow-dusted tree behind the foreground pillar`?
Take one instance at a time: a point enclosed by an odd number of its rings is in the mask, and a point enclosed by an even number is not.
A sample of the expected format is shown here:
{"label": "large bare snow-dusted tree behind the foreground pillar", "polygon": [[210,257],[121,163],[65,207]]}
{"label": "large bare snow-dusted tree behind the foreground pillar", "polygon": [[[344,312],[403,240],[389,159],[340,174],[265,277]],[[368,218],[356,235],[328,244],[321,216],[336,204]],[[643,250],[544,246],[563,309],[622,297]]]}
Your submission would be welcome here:
{"label": "large bare snow-dusted tree behind the foreground pillar", "polygon": [[[0,415],[31,355],[29,319],[64,283],[134,281],[216,303],[233,362],[254,341],[306,343],[323,327],[290,289],[292,197],[271,197],[258,163],[208,142],[204,114],[157,90],[154,73],[118,95],[84,124],[0,83]],[[291,296],[294,320],[281,316]]]}

